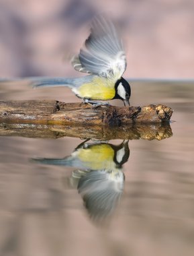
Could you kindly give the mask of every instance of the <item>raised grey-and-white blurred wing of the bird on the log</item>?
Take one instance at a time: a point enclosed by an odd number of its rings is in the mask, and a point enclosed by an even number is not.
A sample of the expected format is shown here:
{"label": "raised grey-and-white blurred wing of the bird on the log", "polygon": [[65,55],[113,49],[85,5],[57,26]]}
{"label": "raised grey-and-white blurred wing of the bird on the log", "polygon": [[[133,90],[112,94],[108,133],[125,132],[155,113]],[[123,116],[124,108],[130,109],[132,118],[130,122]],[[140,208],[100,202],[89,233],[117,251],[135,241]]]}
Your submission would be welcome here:
{"label": "raised grey-and-white blurred wing of the bird on the log", "polygon": [[103,16],[91,23],[84,49],[72,59],[75,70],[119,79],[126,70],[126,55],[113,24]]}

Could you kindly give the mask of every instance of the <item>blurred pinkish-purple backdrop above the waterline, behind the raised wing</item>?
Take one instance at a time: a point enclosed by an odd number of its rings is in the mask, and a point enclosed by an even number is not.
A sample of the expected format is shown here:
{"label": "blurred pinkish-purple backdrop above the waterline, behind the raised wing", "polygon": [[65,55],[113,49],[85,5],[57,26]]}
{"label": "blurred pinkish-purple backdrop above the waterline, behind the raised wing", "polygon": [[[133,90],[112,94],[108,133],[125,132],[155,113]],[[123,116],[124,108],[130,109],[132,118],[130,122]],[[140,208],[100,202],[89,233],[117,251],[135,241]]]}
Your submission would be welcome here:
{"label": "blurred pinkish-purple backdrop above the waterline, behind the raised wing", "polygon": [[192,0],[1,0],[0,77],[76,76],[70,59],[105,12],[121,28],[126,77],[193,78]]}

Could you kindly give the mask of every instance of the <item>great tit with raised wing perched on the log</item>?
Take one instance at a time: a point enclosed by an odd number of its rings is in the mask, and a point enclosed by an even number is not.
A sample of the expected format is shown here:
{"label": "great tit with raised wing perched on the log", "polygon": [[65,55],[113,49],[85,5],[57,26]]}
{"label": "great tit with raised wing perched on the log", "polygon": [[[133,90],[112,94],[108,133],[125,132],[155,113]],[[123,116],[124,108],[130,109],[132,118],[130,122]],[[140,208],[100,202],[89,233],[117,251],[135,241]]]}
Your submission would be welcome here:
{"label": "great tit with raised wing perched on the log", "polygon": [[130,105],[130,84],[122,77],[126,70],[126,55],[113,24],[102,15],[91,22],[91,33],[79,55],[72,59],[75,70],[89,73],[84,77],[37,77],[31,85],[68,86],[85,103],[103,104],[94,100],[123,100]]}

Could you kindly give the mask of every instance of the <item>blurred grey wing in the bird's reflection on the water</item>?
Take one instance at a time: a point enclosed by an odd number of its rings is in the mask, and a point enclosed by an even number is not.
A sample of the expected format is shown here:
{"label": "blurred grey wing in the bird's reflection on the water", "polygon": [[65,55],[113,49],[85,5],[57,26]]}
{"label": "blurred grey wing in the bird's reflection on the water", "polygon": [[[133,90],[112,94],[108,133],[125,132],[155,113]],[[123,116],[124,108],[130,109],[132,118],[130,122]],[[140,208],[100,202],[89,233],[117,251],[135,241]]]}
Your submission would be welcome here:
{"label": "blurred grey wing in the bird's reflection on the water", "polygon": [[78,190],[85,206],[95,220],[109,216],[117,205],[124,188],[124,181],[117,182],[109,179],[105,171],[91,171],[81,177]]}

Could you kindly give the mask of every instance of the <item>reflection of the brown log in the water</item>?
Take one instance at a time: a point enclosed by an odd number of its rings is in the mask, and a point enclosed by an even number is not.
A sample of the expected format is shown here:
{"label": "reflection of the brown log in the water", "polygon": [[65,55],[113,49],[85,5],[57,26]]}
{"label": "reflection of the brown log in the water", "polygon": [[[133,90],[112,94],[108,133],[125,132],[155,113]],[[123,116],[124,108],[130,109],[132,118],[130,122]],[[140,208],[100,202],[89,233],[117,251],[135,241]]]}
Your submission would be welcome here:
{"label": "reflection of the brown log in the water", "polygon": [[83,137],[89,139],[166,139],[173,136],[169,123],[133,124],[120,127],[89,125],[37,125],[21,123],[0,123],[1,136],[32,138]]}

